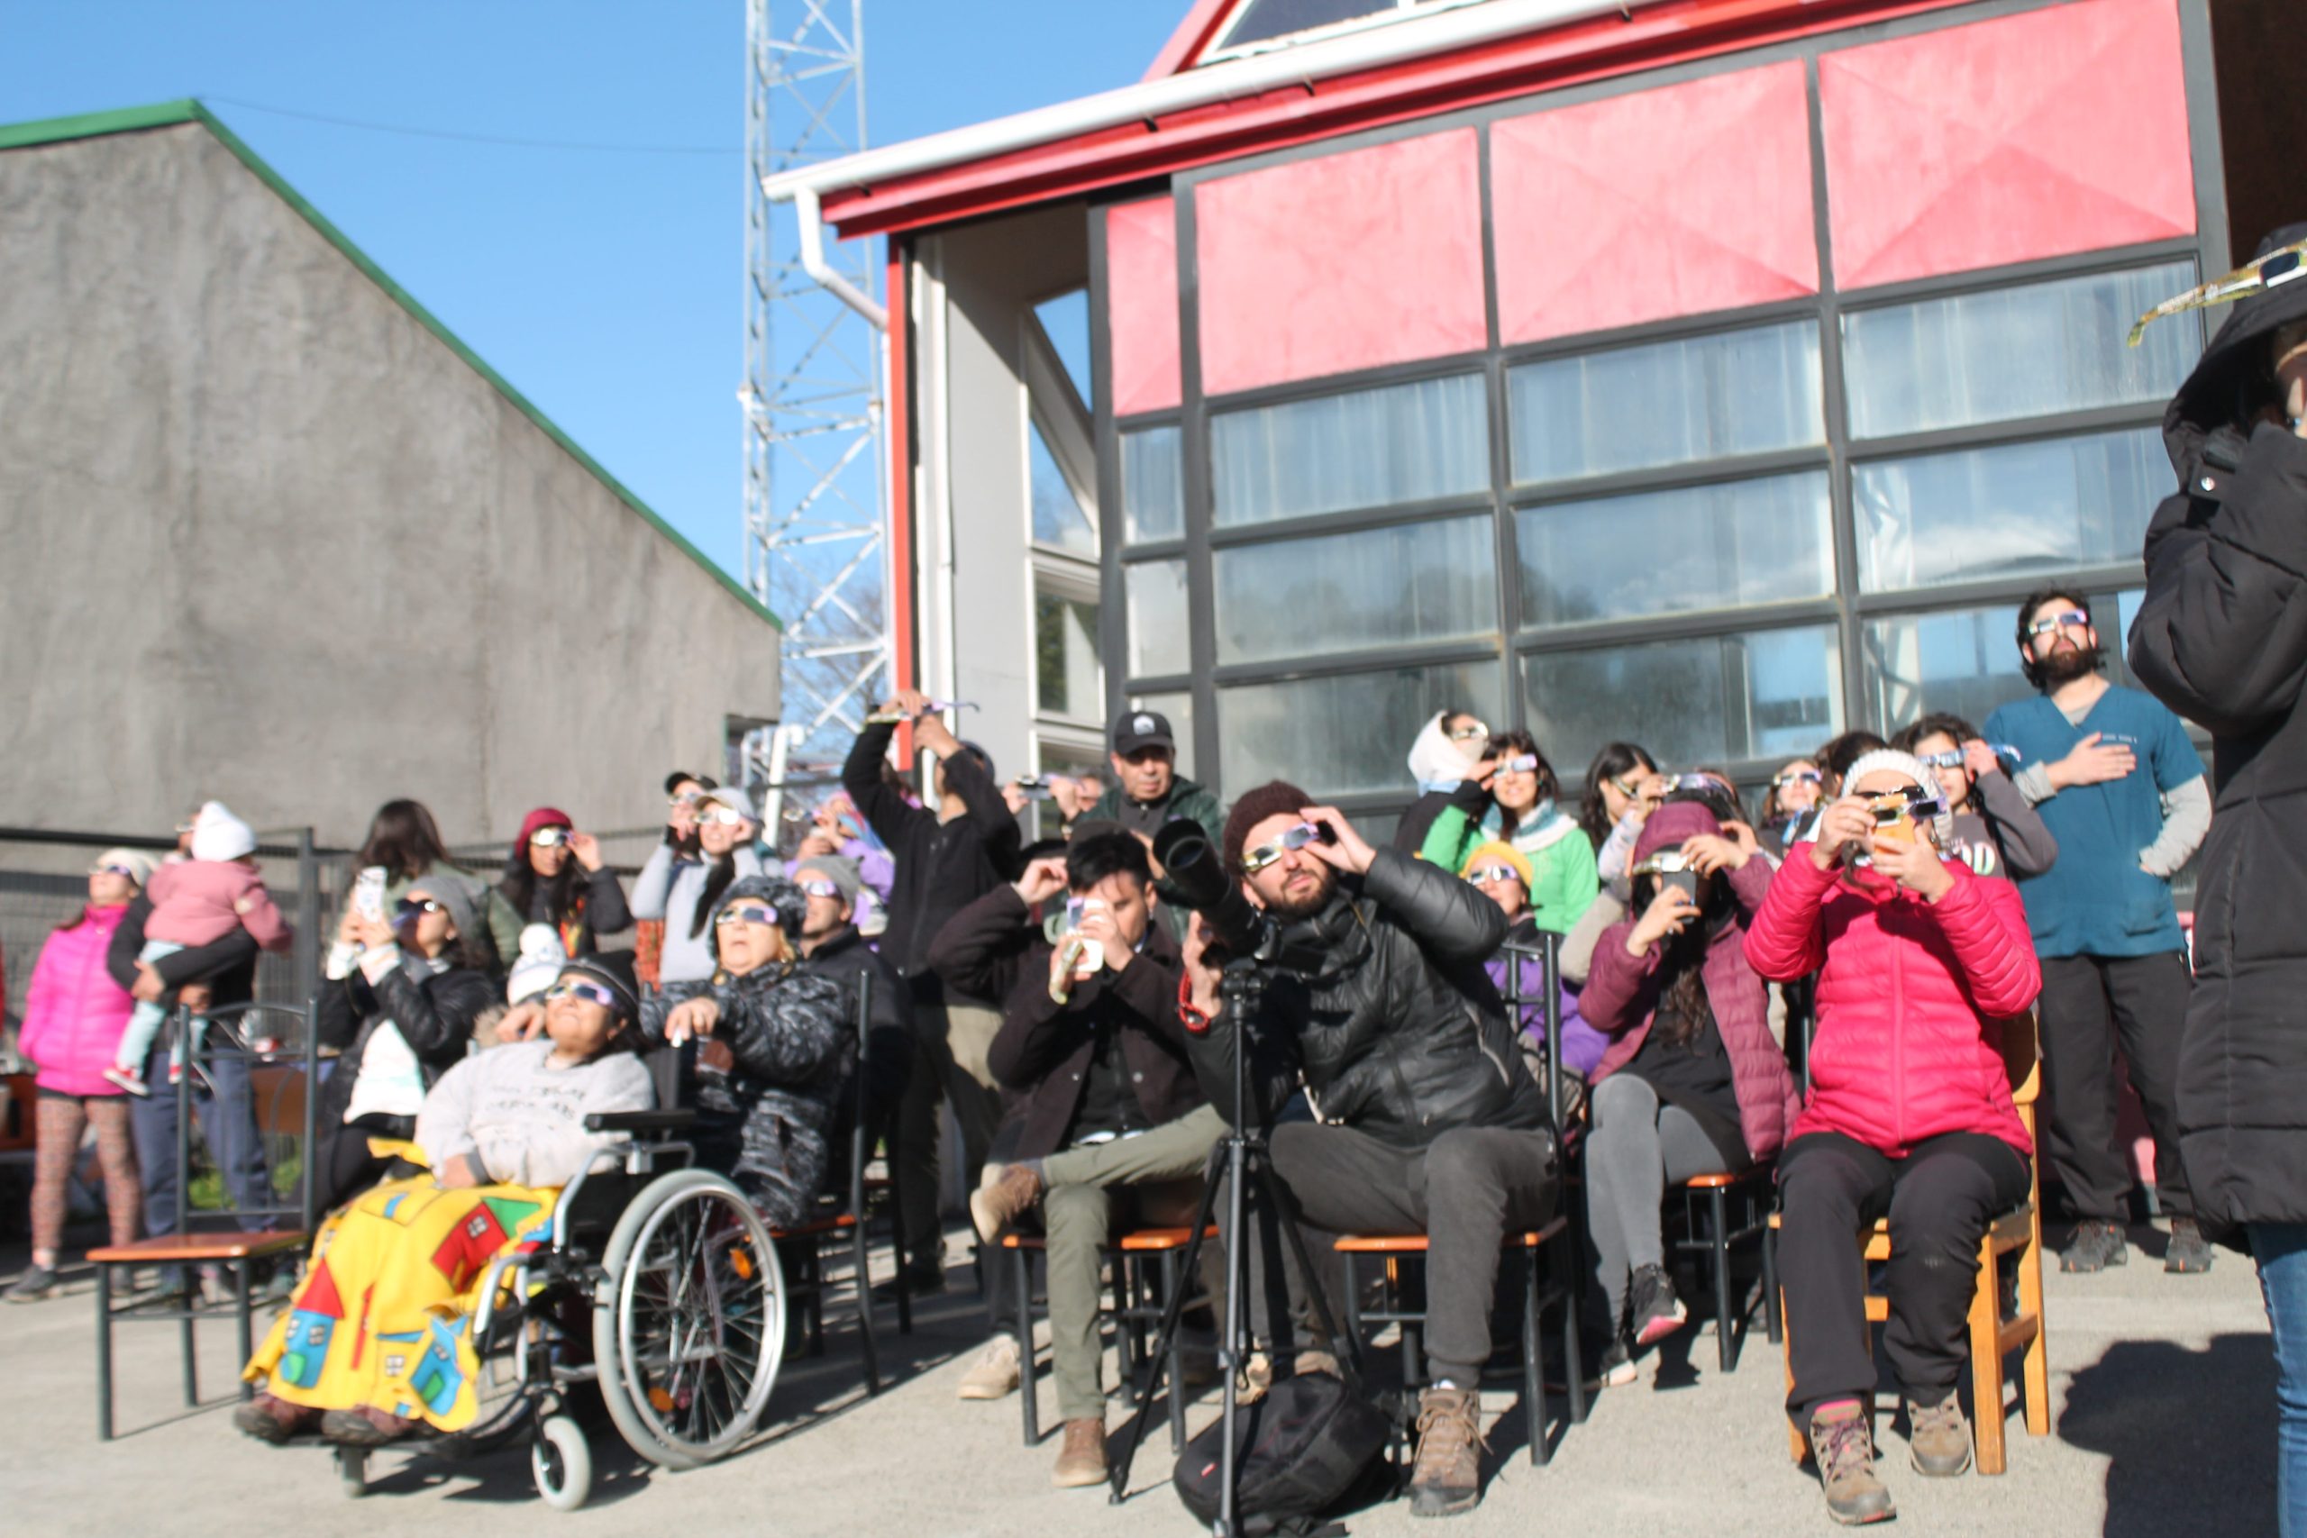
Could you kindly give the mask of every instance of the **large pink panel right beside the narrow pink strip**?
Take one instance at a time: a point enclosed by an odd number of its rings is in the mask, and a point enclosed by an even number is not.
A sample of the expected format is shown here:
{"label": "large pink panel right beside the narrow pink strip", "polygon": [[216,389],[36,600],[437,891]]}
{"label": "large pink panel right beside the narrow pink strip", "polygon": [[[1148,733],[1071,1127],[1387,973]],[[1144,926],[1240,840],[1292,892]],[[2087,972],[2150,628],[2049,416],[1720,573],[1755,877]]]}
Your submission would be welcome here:
{"label": "large pink panel right beside the narrow pink strip", "polygon": [[1488,344],[1474,129],[1246,171],[1193,198],[1204,394]]}

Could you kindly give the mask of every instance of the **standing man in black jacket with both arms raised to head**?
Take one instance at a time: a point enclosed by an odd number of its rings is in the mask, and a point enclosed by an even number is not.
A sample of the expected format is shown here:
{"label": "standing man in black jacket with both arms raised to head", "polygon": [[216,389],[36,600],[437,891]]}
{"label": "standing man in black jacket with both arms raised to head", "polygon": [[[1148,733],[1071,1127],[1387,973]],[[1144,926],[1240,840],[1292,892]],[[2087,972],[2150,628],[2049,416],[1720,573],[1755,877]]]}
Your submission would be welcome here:
{"label": "standing man in black jacket with both arms raised to head", "polygon": [[[985,1049],[1001,1028],[990,998],[950,992],[930,966],[930,941],[948,918],[1017,874],[1017,819],[1001,802],[985,752],[964,745],[930,699],[904,689],[874,715],[893,717],[858,733],[842,766],[842,789],[888,846],[897,874],[888,892],[888,929],[881,955],[904,978],[914,1005],[914,1031],[927,1056],[927,1072],[907,1081],[897,1107],[900,1190],[904,1211],[907,1287],[937,1291],[946,1284],[944,1238],[937,1229],[937,1095],[944,1086],[953,1118],[962,1128],[962,1178],[978,1183],[985,1146],[1001,1118],[1001,1091],[985,1065]],[[916,807],[881,777],[895,717],[914,722],[918,747],[937,754],[937,809]]]}

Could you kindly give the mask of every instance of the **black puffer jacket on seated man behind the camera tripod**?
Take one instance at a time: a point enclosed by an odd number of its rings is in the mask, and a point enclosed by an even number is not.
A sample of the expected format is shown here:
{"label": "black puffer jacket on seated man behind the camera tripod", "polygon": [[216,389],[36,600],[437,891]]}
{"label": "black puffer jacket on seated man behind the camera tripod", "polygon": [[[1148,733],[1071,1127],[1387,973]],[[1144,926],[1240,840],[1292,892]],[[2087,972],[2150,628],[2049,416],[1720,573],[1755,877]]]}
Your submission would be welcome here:
{"label": "black puffer jacket on seated man behind the camera tripod", "polygon": [[[1506,915],[1479,890],[1398,849],[1380,849],[1361,892],[1283,929],[1317,952],[1310,978],[1273,975],[1255,1093],[1267,1114],[1303,1084],[1315,1114],[1400,1148],[1451,1128],[1543,1128],[1546,1100],[1513,1045],[1483,962]],[[1188,1038],[1202,1088],[1232,1114],[1234,1021],[1220,1010]]]}

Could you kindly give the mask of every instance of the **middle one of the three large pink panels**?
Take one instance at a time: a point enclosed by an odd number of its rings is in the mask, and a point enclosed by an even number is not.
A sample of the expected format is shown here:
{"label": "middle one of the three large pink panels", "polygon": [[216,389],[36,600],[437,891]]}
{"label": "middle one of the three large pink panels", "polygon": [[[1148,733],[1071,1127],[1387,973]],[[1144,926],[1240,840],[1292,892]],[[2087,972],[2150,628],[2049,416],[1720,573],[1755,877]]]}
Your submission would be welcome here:
{"label": "middle one of the three large pink panels", "polygon": [[1818,293],[1802,65],[1493,125],[1490,226],[1509,344]]}

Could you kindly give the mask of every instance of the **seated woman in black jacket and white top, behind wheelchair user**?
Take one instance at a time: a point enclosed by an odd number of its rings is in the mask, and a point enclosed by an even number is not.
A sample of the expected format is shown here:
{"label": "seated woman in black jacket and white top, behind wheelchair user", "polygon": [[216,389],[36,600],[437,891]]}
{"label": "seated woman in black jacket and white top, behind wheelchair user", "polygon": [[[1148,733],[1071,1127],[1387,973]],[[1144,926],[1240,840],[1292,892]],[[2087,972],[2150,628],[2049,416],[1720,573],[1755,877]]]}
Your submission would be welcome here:
{"label": "seated woman in black jacket and white top, behind wheelchair user", "polygon": [[390,1160],[371,1137],[408,1137],[424,1091],[466,1054],[498,1003],[496,950],[464,881],[424,879],[388,918],[346,902],[328,948],[318,1038],[337,1068],[314,1107],[314,1206],[351,1201]]}

